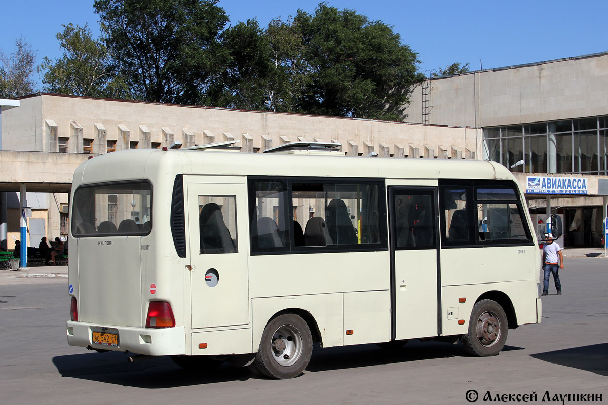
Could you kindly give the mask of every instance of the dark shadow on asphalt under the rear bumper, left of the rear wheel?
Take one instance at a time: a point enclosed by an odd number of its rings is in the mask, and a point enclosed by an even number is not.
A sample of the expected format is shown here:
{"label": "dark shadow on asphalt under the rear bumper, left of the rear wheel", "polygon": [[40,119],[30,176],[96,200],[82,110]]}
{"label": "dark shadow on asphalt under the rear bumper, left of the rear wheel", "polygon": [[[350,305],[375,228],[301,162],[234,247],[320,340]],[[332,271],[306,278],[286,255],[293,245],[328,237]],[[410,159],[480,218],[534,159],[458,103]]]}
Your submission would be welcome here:
{"label": "dark shadow on asphalt under the rear bumper, left of the rear wheel", "polygon": [[227,364],[211,373],[193,372],[177,366],[168,356],[130,363],[127,355],[119,352],[56,356],[53,364],[63,377],[146,389],[245,381],[252,377],[246,367]]}

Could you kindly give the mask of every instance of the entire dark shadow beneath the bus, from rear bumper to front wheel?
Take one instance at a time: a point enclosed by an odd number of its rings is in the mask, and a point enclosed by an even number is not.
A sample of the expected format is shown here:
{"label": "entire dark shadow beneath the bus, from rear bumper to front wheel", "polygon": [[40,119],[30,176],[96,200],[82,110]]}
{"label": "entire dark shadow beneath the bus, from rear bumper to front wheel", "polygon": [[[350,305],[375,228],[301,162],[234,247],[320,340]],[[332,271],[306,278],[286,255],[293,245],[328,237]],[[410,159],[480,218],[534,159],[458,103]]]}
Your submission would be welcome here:
{"label": "entire dark shadow beneath the bus, from rear bumper to front wheel", "polygon": [[[504,351],[521,350],[505,346]],[[409,342],[401,349],[381,349],[375,344],[320,349],[315,344],[309,372],[372,367],[399,362],[430,359],[468,357],[460,344],[442,342]],[[212,372],[193,372],[177,366],[168,356],[128,362],[128,356],[120,352],[83,353],[55,356],[53,364],[63,377],[88,379],[100,383],[125,387],[162,389],[201,384],[246,381],[249,378],[265,378],[247,367],[223,364]]]}

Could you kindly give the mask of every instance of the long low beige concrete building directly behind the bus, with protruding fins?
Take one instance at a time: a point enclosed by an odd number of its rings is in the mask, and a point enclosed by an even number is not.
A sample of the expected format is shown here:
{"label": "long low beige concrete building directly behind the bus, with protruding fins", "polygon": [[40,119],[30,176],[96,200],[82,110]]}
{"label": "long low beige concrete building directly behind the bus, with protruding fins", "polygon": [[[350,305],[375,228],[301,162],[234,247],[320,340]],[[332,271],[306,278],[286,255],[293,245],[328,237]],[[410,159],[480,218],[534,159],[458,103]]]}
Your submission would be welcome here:
{"label": "long low beige concrete building directly behind the bus, with protruding fins", "polygon": [[[12,191],[8,247],[19,239],[21,211],[15,191],[47,191],[28,197],[29,246],[41,236],[67,235],[64,177],[90,154],[134,148],[182,147],[237,140],[241,152],[261,152],[291,141],[342,144],[348,155],[375,152],[393,158],[476,159],[482,132],[467,126],[440,126],[282,114],[136,101],[36,94],[2,114],[0,191]],[[18,152],[17,152],[18,151]],[[19,174],[19,178],[15,177]],[[44,185],[44,186],[43,186]],[[17,187],[15,189],[15,187]],[[12,220],[15,219],[15,220]]]}

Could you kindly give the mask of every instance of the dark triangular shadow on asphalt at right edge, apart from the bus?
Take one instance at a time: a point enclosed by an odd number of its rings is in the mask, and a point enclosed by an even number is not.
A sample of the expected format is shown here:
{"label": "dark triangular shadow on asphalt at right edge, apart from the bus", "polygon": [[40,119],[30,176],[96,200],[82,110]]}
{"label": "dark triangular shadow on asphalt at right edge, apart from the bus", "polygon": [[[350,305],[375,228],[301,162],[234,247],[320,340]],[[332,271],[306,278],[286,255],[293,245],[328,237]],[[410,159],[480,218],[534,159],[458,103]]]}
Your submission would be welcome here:
{"label": "dark triangular shadow on asphalt at right edge, apart from the bus", "polygon": [[608,343],[554,350],[553,352],[537,353],[531,356],[552,364],[559,364],[561,366],[608,376],[608,365],[606,364],[606,358],[608,358]]}

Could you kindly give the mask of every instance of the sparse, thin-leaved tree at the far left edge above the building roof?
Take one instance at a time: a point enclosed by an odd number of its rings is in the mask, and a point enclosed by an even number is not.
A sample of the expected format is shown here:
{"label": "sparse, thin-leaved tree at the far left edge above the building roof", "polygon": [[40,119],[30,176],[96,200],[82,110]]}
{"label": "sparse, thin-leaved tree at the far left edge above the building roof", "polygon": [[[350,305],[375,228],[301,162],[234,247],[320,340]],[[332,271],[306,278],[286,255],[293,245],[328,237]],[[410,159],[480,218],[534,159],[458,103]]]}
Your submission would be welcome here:
{"label": "sparse, thin-leaved tree at the far left edge above the building roof", "polygon": [[0,50],[0,98],[15,98],[32,94],[36,52],[21,38],[15,41],[15,52],[10,55]]}

